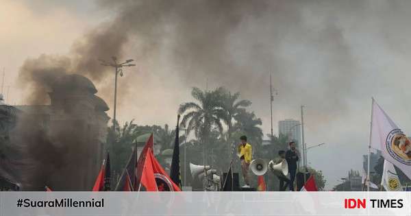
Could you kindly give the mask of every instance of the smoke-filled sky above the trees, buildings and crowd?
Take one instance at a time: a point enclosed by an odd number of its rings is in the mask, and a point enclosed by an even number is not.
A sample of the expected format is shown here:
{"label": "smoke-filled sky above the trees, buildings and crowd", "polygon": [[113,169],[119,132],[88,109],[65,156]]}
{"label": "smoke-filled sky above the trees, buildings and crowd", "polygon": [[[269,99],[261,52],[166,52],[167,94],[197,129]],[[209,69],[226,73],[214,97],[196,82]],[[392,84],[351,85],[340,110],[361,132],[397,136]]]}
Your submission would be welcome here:
{"label": "smoke-filled sky above the trees, buildings and crowd", "polygon": [[[175,124],[193,86],[225,86],[253,104],[270,132],[269,75],[277,121],[304,108],[308,163],[327,189],[362,169],[371,97],[409,134],[409,1],[0,0],[0,69],[8,104],[33,101],[29,67],[69,64],[113,104],[114,73],[97,59],[132,58],[119,78],[118,118]],[[30,63],[30,64],[29,64]],[[40,66],[38,66],[40,65]],[[66,65],[66,63],[64,63]],[[34,74],[35,75],[35,74]],[[22,78],[23,77],[23,78]],[[45,95],[43,93],[42,95]],[[112,117],[112,110],[108,111]]]}

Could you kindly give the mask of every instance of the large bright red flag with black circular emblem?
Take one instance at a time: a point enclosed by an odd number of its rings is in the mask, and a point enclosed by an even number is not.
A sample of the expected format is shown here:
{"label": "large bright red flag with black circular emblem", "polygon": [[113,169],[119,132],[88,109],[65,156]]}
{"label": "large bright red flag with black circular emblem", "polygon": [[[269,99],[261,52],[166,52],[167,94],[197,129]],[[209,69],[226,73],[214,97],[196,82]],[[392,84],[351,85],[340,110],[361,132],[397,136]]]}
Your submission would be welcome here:
{"label": "large bright red flag with black circular emblem", "polygon": [[[144,187],[146,191],[181,191],[155,159],[152,147],[153,134],[147,141],[142,155],[138,158],[138,165],[141,168],[137,167],[137,171],[141,170],[141,173],[136,173],[136,176],[140,176],[140,180],[138,180],[140,187]],[[138,189],[138,191],[140,190]]]}

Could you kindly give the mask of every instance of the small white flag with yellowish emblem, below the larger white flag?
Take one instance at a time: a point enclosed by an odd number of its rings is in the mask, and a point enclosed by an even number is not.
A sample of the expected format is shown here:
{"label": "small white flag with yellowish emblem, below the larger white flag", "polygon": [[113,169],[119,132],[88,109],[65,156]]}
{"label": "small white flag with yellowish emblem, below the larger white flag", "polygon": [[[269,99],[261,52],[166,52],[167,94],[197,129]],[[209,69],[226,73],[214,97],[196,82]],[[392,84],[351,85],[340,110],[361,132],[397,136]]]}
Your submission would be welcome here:
{"label": "small white flag with yellowish emblem, below the larger white flag", "polygon": [[386,191],[403,191],[397,171],[395,171],[394,165],[388,160],[384,160],[381,184]]}

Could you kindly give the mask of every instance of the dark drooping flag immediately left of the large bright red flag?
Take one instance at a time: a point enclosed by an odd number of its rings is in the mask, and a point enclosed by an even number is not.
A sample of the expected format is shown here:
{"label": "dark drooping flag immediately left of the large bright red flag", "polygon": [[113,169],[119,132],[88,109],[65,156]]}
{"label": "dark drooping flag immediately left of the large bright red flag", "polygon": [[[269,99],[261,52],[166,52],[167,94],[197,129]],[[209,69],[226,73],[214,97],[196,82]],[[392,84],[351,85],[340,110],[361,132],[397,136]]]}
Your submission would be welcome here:
{"label": "dark drooping flag immediately left of the large bright red flag", "polygon": [[[117,182],[115,191],[133,191],[136,185],[136,172],[137,166],[137,146],[134,146],[132,155],[129,156],[127,165],[121,173],[120,180]],[[129,188],[131,185],[131,188]]]}

